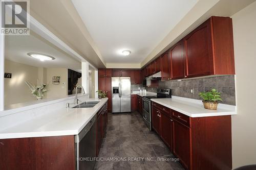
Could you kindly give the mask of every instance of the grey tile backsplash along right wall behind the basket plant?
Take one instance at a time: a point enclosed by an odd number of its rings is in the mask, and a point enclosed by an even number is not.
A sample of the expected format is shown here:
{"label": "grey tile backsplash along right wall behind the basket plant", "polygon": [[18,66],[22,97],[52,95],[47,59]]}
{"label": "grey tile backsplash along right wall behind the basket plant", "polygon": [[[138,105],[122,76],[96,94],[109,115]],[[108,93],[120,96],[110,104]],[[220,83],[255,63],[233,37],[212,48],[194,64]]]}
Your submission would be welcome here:
{"label": "grey tile backsplash along right wall behind the basket plant", "polygon": [[[234,86],[234,76],[219,76],[211,78],[190,79],[182,81],[166,81],[159,80],[158,88],[170,88],[172,89],[172,95],[181,96],[184,98],[199,99],[199,92],[209,91],[212,88],[216,88],[221,92],[222,100],[224,104],[236,105],[236,92]],[[146,87],[147,91],[156,92],[157,88]],[[193,89],[193,93],[191,93]]]}

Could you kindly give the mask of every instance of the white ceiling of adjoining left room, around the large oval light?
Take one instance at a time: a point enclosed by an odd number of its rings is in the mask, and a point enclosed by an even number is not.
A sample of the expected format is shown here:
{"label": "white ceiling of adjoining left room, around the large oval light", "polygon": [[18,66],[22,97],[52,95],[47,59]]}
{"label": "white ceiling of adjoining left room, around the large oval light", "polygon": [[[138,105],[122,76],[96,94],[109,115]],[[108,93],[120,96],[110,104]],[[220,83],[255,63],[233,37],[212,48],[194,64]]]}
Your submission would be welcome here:
{"label": "white ceiling of adjoining left room, around the large oval light", "polygon": [[[40,61],[28,53],[42,53],[55,58]],[[23,64],[46,68],[70,68],[81,71],[81,62],[69,56],[58,47],[30,31],[29,36],[5,36],[5,58]]]}

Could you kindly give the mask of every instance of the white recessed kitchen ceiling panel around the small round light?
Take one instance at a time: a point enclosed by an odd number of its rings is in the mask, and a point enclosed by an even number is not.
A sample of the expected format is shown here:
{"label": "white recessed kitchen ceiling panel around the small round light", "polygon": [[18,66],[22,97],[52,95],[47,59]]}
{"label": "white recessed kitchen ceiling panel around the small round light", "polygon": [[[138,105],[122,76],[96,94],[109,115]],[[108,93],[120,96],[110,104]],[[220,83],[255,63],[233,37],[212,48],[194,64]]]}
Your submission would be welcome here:
{"label": "white recessed kitchen ceiling panel around the small round light", "polygon": [[72,2],[106,63],[141,63],[197,0]]}

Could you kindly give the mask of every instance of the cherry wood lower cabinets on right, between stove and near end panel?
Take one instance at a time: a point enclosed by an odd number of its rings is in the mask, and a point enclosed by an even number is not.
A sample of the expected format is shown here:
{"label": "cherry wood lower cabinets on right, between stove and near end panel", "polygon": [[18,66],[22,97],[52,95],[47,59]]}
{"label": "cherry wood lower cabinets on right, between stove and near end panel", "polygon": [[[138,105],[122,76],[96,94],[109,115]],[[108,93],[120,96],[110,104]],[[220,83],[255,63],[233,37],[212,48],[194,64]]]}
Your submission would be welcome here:
{"label": "cherry wood lower cabinets on right, between stove and near end panel", "polygon": [[231,116],[189,117],[152,102],[152,126],[186,169],[232,169]]}

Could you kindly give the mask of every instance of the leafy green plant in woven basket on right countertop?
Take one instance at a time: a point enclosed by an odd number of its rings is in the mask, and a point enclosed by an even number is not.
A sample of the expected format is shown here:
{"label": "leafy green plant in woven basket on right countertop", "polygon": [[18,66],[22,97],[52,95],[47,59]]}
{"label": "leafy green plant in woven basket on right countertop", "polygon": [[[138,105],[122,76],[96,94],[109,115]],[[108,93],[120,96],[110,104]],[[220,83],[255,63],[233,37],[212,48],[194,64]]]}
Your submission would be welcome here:
{"label": "leafy green plant in woven basket on right countertop", "polygon": [[216,89],[211,89],[207,92],[200,92],[199,95],[203,99],[205,109],[217,110],[218,101],[222,101],[221,93]]}

